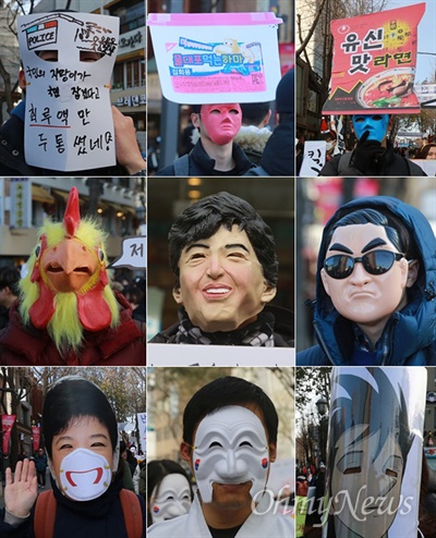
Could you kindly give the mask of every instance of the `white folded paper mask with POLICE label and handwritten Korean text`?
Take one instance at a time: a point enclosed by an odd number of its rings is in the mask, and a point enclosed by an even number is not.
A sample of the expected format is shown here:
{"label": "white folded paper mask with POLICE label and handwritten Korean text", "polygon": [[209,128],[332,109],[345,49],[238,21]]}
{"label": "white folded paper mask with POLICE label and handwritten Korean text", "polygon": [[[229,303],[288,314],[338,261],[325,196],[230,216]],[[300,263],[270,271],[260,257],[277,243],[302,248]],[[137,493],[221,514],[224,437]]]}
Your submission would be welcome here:
{"label": "white folded paper mask with POLICE label and handwritten Korean text", "polygon": [[59,171],[116,164],[110,78],[119,24],[90,13],[19,17],[27,164]]}

